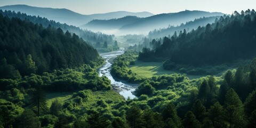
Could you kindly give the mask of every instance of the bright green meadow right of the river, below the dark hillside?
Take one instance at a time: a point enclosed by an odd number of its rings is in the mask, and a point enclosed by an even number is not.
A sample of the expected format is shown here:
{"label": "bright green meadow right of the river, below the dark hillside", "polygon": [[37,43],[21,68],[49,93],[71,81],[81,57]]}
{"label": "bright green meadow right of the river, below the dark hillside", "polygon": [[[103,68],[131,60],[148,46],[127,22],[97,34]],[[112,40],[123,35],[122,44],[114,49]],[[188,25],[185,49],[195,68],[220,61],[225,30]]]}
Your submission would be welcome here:
{"label": "bright green meadow right of the river, below the dark hillside", "polygon": [[153,76],[173,74],[174,71],[164,70],[162,62],[142,62],[135,61],[135,65],[128,67],[132,73],[136,73],[138,77],[151,78]]}

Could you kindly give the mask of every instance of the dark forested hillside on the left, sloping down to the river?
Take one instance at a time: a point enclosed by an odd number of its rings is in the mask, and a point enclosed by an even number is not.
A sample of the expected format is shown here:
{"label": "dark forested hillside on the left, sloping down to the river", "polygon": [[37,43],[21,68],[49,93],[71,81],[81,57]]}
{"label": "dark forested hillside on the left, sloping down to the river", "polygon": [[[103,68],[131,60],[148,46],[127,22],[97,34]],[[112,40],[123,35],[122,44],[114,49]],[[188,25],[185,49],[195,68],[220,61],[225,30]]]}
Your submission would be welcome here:
{"label": "dark forested hillside on the left, sloping down to the river", "polygon": [[64,33],[60,28],[44,28],[2,14],[0,26],[1,78],[102,63],[97,50],[76,34]]}

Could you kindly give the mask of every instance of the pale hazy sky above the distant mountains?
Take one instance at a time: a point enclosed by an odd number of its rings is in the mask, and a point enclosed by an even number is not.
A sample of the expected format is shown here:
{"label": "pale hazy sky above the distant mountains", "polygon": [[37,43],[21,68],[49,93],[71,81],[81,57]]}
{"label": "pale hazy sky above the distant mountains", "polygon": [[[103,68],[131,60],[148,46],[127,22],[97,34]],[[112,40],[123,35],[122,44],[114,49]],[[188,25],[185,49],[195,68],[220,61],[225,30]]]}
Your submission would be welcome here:
{"label": "pale hazy sky above the distant mountains", "polygon": [[233,11],[254,9],[256,0],[0,0],[0,6],[26,4],[38,7],[66,8],[81,14],[114,11],[142,12],[154,14],[202,10],[231,14]]}

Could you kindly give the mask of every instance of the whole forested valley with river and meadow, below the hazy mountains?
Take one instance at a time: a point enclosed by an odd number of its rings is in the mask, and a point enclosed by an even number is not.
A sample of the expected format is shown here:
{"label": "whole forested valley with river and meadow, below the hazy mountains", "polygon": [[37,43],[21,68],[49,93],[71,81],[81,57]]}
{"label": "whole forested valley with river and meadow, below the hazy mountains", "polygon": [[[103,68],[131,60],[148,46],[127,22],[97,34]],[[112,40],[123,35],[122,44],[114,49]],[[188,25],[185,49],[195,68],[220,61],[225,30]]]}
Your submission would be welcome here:
{"label": "whole forested valley with river and meadow, below the hazy mountains", "polygon": [[145,36],[0,10],[0,127],[255,127],[255,36],[250,9]]}

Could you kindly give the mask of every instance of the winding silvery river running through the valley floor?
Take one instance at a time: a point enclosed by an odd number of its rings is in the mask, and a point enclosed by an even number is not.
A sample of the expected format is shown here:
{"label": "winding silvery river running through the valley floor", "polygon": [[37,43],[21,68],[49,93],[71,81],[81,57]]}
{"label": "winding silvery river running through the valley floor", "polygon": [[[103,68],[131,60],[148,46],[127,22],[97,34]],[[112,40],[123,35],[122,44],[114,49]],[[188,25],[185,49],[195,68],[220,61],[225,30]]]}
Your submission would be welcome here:
{"label": "winding silvery river running through the valley floor", "polygon": [[130,97],[130,99],[133,99],[135,98],[135,95],[133,95],[132,92],[135,91],[135,89],[137,89],[138,86],[117,81],[110,74],[110,69],[112,64],[109,62],[109,60],[111,58],[112,59],[116,58],[118,55],[121,55],[123,53],[124,53],[124,48],[121,47],[121,49],[118,51],[100,54],[101,57],[106,60],[106,64],[99,68],[99,76],[108,77],[108,79],[110,79],[111,81],[111,85],[113,89],[118,90],[117,92],[119,92],[119,94],[121,94],[125,99],[127,99],[128,97]]}

